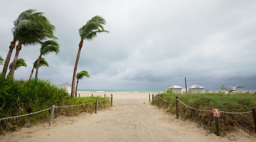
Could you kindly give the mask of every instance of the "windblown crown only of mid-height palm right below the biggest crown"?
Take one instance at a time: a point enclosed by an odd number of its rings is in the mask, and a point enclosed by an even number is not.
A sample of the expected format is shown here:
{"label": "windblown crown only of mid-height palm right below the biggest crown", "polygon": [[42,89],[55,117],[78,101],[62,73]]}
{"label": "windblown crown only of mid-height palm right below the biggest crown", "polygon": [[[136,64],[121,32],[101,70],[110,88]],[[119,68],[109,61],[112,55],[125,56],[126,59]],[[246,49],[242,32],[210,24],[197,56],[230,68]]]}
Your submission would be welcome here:
{"label": "windblown crown only of mid-height palm right below the biggest crown", "polygon": [[59,53],[59,43],[53,40],[48,40],[43,42],[43,44],[41,44],[41,48],[40,48],[40,54],[41,55],[48,55],[52,52],[55,52],[56,55]]}

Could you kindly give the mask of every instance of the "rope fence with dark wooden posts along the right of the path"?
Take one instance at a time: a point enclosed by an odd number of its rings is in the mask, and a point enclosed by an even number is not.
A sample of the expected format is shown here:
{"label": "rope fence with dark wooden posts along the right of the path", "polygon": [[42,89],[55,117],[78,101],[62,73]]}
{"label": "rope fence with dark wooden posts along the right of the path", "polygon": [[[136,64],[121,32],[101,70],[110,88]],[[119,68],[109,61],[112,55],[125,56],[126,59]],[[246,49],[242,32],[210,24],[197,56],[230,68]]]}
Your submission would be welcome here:
{"label": "rope fence with dark wooden posts along the right of the path", "polygon": [[[164,99],[162,99],[159,95],[158,95],[158,104],[159,104],[159,108],[161,108],[161,103],[160,103],[160,99],[165,101],[165,102],[168,102],[168,103],[172,103],[172,102],[176,102],[176,118],[178,119],[179,117],[179,102],[181,102],[178,97],[175,97],[175,101],[166,101]],[[149,94],[149,102],[150,102],[150,94]],[[154,105],[154,94],[152,95],[152,104]],[[186,104],[184,104],[183,102],[181,102],[181,104],[185,105],[186,107],[189,107],[187,106]],[[193,107],[189,107],[191,109],[194,109],[194,110],[197,110],[197,111],[204,111],[204,112],[213,112],[213,110],[200,110],[200,109],[196,109],[196,108],[193,108]],[[225,111],[219,111],[219,112],[222,112],[222,113],[230,113],[230,114],[241,114],[241,113],[233,113],[233,112],[225,112]],[[253,121],[254,121],[254,127],[255,127],[255,132],[256,132],[256,108],[252,108],[252,111],[249,111],[249,112],[242,112],[242,113],[253,113]],[[217,113],[218,114],[218,113]],[[219,114],[218,114],[219,115]],[[219,116],[216,115],[216,112],[215,114],[213,114],[213,117],[215,118],[215,124],[216,124],[216,132],[217,132],[217,136],[220,136],[220,128],[219,128]]]}

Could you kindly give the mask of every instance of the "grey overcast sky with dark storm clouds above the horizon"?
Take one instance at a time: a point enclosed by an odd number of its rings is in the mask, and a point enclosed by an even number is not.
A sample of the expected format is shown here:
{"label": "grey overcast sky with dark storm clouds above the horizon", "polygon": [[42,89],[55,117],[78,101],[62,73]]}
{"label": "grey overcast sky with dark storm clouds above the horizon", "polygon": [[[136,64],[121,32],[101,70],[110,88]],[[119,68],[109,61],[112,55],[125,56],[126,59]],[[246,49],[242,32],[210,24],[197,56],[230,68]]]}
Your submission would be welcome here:
{"label": "grey overcast sky with dark storm clouds above the horizon", "polygon": [[[7,56],[12,22],[21,12],[44,12],[56,26],[60,53],[44,56],[50,67],[39,68],[38,76],[56,85],[72,83],[78,29],[100,15],[111,33],[84,41],[77,72],[87,70],[91,78],[79,81],[78,89],[165,90],[174,84],[185,87],[185,76],[187,87],[256,89],[255,7],[256,1],[246,0],[3,1],[0,55]],[[29,79],[39,48],[23,46],[19,58],[28,66],[15,71],[16,79]]]}

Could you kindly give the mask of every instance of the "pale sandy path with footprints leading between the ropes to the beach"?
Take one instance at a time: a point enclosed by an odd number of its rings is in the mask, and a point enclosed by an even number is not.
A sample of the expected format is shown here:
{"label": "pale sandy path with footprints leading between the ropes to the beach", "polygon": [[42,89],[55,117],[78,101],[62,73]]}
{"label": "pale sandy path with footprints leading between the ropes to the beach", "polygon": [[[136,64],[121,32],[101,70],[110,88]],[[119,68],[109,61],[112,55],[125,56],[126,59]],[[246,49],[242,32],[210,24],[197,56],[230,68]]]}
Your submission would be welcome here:
{"label": "pale sandy path with footprints leading between the ropes to the beach", "polygon": [[[91,93],[87,93],[88,95]],[[84,94],[84,95],[87,95]],[[101,93],[104,94],[104,93]],[[1,136],[0,141],[255,141],[243,131],[223,137],[189,120],[149,105],[148,93],[111,93],[114,107],[97,114],[61,116],[48,123]],[[100,95],[98,93],[97,95]],[[82,94],[81,94],[82,96]],[[145,102],[145,103],[144,103]]]}

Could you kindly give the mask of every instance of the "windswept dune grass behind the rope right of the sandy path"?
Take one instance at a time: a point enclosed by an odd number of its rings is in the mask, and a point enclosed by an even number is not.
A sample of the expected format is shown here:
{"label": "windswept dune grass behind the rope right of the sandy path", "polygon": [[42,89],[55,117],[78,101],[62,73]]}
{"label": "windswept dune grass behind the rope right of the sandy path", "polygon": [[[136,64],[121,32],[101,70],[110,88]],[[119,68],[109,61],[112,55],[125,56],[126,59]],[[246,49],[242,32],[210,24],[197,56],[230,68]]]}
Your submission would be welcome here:
{"label": "windswept dune grass behind the rope right of the sandy path", "polygon": [[[182,101],[187,106],[200,109],[200,110],[212,110],[213,108],[219,108],[225,112],[249,112],[252,108],[256,107],[256,95],[253,93],[203,93],[203,94],[174,94],[174,93],[162,93],[159,94],[163,100],[175,101],[175,97]],[[158,104],[158,96],[154,96],[154,104]],[[168,109],[172,113],[176,113],[176,104],[167,103],[161,100],[161,107]],[[216,132],[215,119],[212,112],[204,112],[191,109],[184,106],[179,102],[179,114],[184,119],[190,119],[195,122],[199,122],[206,126],[210,132]],[[239,127],[245,131],[253,131],[254,123],[252,113],[242,114],[230,114],[221,113],[220,122],[220,134],[225,135],[226,132],[235,130]]]}

